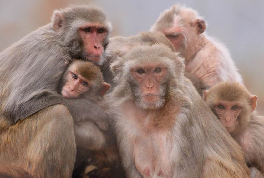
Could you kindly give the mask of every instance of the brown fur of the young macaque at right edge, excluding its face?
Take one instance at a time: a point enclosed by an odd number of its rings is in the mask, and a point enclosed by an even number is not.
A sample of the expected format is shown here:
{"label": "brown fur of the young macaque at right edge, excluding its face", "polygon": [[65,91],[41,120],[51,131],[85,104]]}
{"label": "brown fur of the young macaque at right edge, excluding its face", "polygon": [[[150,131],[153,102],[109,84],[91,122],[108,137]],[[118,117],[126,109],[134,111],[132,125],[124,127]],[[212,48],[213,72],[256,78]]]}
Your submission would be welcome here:
{"label": "brown fur of the young macaque at right edge, excluding its face", "polygon": [[231,136],[245,152],[249,166],[257,167],[264,173],[264,117],[251,108],[252,94],[243,85],[232,82],[219,83],[206,92],[206,103],[213,110],[219,101],[236,101],[242,106],[238,125]]}

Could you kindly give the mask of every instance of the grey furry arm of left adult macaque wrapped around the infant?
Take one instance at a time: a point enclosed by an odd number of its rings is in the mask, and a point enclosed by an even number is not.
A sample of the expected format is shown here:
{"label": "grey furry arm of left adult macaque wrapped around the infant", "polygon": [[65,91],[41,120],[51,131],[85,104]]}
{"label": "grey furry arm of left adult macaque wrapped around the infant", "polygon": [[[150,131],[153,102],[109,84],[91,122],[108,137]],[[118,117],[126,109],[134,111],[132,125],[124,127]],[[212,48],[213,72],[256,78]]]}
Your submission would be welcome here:
{"label": "grey furry arm of left adult macaque wrapped around the infant", "polygon": [[54,104],[65,105],[74,118],[74,122],[94,121],[100,129],[106,130],[107,113],[98,105],[86,99],[65,99],[63,96],[51,91],[36,91],[18,102],[7,103],[5,113],[14,123]]}

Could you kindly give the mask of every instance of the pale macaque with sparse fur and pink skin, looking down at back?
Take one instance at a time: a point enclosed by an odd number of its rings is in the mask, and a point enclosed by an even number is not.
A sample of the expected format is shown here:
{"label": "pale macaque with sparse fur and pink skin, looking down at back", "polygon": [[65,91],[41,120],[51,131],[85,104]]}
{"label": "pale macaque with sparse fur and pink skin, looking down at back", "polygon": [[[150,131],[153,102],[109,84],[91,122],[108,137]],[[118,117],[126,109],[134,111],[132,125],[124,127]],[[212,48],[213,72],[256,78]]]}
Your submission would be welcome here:
{"label": "pale macaque with sparse fur and pink skin, looking down at back", "polygon": [[232,61],[228,49],[203,32],[206,22],[198,13],[179,4],[160,14],[150,31],[160,31],[185,58],[185,70],[196,75],[210,87],[223,81],[242,78]]}

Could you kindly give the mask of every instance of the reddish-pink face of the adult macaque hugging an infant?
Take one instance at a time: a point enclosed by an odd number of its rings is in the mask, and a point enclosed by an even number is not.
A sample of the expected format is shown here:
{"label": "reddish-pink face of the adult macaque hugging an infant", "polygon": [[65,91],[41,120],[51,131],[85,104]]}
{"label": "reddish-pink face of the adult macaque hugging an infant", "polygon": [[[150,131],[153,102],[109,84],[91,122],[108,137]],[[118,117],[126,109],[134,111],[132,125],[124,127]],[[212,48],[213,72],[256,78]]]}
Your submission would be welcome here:
{"label": "reddish-pink face of the adult macaque hugging an infant", "polygon": [[86,59],[100,64],[101,56],[104,53],[103,42],[107,33],[107,29],[98,24],[87,24],[79,29]]}

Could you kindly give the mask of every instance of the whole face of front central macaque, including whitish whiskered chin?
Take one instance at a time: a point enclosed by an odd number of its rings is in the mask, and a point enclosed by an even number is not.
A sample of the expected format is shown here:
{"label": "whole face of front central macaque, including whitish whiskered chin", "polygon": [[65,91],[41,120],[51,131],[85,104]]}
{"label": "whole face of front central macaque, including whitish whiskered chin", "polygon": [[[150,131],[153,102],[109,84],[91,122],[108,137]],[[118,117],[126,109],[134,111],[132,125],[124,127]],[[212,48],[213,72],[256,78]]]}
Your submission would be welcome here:
{"label": "whole face of front central macaque, including whitish whiskered chin", "polygon": [[137,83],[136,104],[144,109],[158,109],[164,105],[166,88],[164,78],[167,68],[161,65],[149,64],[137,66],[130,70]]}

